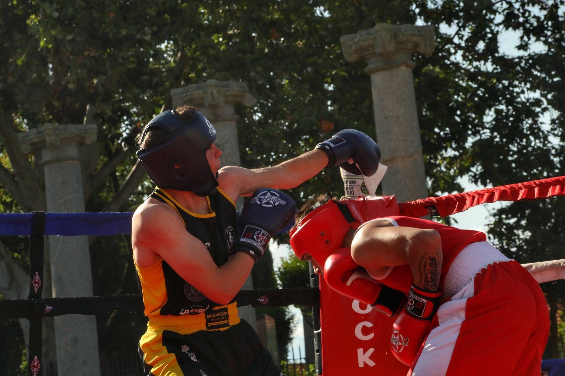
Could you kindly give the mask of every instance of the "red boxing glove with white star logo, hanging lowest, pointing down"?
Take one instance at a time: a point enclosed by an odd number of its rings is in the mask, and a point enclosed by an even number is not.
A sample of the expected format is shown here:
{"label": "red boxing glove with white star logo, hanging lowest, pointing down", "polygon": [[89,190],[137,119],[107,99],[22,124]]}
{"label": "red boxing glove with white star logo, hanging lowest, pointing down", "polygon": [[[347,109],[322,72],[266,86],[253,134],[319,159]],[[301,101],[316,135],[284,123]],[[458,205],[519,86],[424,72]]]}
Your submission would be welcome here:
{"label": "red boxing glove with white star logo, hanging lowest, pointing down", "polygon": [[440,303],[441,292],[420,290],[410,286],[405,311],[398,315],[390,337],[394,357],[407,366],[416,359],[421,344],[429,333],[429,326]]}

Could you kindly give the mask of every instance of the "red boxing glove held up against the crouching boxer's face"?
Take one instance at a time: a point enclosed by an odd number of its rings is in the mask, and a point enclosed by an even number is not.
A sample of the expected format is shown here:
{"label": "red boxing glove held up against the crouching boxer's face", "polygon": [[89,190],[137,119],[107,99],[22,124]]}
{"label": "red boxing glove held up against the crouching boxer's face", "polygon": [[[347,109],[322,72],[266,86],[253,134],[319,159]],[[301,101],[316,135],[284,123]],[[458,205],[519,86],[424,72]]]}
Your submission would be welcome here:
{"label": "red boxing glove held up against the crouching boxer's face", "polygon": [[333,290],[368,304],[389,317],[400,311],[406,298],[401,291],[373,280],[365,269],[359,267],[351,258],[349,248],[340,248],[329,255],[323,274],[328,286]]}

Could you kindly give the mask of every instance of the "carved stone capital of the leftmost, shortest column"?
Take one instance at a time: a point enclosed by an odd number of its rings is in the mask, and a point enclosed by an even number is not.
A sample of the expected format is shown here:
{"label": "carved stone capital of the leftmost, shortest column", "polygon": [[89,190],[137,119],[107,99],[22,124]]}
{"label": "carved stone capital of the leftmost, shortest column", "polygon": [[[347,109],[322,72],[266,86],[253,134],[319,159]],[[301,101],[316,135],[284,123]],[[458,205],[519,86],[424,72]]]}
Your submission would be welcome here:
{"label": "carved stone capital of the leftmost, shortest column", "polygon": [[80,161],[79,147],[96,141],[95,124],[45,124],[18,134],[26,154],[41,152],[40,163]]}

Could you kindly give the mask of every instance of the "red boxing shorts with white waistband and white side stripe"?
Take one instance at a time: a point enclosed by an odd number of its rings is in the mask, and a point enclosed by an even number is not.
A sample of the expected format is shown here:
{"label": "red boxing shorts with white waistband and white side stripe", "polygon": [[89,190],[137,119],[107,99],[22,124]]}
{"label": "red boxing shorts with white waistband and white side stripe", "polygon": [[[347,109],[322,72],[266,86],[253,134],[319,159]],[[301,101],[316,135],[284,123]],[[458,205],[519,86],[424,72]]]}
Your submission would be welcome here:
{"label": "red boxing shorts with white waistband and white side stripe", "polygon": [[411,376],[539,375],[549,336],[540,286],[488,242],[465,247],[447,272],[433,329]]}

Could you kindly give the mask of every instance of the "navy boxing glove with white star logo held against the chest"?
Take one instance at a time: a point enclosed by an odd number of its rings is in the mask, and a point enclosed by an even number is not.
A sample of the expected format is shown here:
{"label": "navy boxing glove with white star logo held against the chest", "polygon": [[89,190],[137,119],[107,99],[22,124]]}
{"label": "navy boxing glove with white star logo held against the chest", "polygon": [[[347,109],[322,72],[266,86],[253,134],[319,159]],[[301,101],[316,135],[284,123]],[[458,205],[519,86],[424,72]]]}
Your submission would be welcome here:
{"label": "navy boxing glove with white star logo held against the chest", "polygon": [[245,252],[257,262],[273,234],[294,219],[295,211],[296,203],[288,194],[272,188],[257,189],[241,207],[234,252]]}

